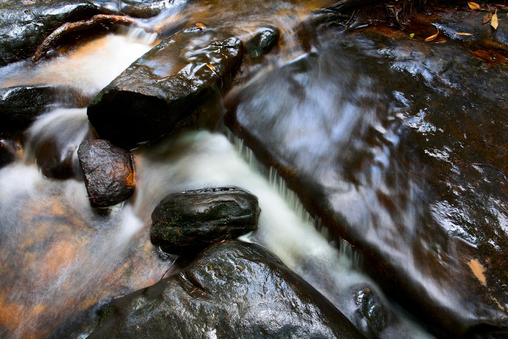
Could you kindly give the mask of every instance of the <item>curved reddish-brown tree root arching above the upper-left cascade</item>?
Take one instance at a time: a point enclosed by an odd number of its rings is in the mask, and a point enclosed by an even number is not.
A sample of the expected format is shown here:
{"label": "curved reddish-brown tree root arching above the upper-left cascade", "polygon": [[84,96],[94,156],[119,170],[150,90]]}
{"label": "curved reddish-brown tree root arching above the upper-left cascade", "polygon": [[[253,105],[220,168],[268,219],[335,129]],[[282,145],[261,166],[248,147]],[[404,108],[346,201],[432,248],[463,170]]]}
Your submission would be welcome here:
{"label": "curved reddish-brown tree root arching above the upper-left cascade", "polygon": [[147,32],[152,32],[152,29],[149,27],[143,27],[139,21],[134,18],[124,16],[124,15],[107,15],[107,14],[98,14],[92,16],[90,19],[75,21],[75,22],[67,22],[60,27],[56,28],[53,33],[51,33],[44,41],[39,45],[39,48],[34,53],[32,57],[32,61],[35,63],[39,61],[46,53],[56,45],[57,41],[63,36],[77,32],[79,30],[89,29],[91,27],[100,25],[100,24],[120,24],[126,26],[140,26],[145,29]]}

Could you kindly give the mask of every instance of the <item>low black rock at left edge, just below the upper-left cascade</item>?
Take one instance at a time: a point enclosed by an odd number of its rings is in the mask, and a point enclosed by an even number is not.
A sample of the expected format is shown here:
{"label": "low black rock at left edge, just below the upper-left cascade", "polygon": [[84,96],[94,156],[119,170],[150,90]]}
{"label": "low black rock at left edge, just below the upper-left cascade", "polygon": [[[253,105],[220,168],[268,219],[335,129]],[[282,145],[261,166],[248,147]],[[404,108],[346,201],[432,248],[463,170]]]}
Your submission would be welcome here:
{"label": "low black rock at left edge, just below the upper-left cascade", "polygon": [[[62,97],[66,100],[62,101]],[[82,107],[72,89],[50,85],[14,86],[0,89],[0,132],[23,130],[37,116],[60,107]]]}

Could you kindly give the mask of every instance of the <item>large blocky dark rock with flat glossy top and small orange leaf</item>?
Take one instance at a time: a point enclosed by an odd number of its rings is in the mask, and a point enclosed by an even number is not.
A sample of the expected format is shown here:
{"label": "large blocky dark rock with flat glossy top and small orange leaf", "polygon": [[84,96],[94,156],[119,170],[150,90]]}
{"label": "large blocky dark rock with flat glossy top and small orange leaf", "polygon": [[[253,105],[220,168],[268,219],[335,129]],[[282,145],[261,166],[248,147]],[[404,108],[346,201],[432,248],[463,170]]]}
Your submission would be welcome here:
{"label": "large blocky dark rock with flat glossy top and small orange leaf", "polygon": [[239,39],[212,29],[182,30],[104,88],[88,106],[88,118],[102,139],[125,149],[197,127],[205,99],[227,86],[242,51]]}

